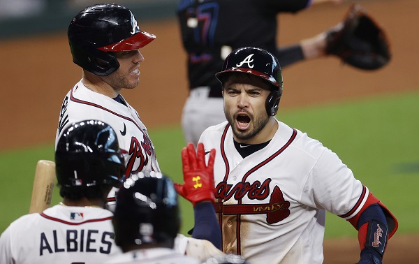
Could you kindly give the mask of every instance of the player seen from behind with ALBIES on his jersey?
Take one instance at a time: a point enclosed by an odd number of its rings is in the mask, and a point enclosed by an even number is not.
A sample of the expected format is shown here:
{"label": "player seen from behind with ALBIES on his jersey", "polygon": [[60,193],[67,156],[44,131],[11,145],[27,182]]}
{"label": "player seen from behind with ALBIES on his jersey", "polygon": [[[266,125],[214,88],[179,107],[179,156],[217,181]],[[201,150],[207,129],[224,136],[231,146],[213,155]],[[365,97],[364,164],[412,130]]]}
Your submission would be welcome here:
{"label": "player seen from behind with ALBIES on his jersey", "polygon": [[13,221],[0,237],[0,263],[103,263],[122,253],[112,212],[104,209],[110,189],[124,179],[115,131],[95,120],[67,126],[55,163],[61,203]]}

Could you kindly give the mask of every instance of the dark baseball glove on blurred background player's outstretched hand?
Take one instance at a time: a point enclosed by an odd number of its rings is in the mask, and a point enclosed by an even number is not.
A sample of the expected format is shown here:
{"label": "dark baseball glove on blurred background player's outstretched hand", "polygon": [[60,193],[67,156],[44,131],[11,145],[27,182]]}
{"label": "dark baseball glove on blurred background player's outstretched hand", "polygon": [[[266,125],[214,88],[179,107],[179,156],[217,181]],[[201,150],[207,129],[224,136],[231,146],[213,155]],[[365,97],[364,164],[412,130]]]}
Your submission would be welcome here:
{"label": "dark baseball glove on blurred background player's outstretched hand", "polygon": [[344,21],[326,32],[326,54],[364,70],[375,70],[390,61],[385,32],[359,4],[353,4]]}

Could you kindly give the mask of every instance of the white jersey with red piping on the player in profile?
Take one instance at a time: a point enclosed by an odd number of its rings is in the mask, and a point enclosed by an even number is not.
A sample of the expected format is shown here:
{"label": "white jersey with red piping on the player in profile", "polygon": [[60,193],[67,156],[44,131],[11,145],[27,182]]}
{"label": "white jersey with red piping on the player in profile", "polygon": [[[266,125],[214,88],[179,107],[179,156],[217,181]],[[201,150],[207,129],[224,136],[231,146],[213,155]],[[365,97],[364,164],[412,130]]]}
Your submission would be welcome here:
{"label": "white jersey with red piping on the player in profile", "polygon": [[[125,99],[124,99],[125,101]],[[55,146],[64,127],[73,122],[97,119],[109,124],[118,136],[119,147],[126,152],[126,177],[140,171],[160,172],[154,153],[154,145],[138,112],[126,101],[126,105],[87,89],[80,80],[68,91],[61,105]],[[108,196],[108,205],[115,207],[115,191]]]}

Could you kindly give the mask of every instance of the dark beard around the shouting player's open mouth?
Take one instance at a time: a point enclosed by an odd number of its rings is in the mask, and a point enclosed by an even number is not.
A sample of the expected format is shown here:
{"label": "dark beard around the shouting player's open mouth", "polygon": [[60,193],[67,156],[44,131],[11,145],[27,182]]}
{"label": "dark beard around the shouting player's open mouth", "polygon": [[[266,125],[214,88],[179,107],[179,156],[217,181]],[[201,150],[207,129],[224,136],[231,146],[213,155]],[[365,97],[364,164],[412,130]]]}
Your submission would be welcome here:
{"label": "dark beard around the shouting player's open mouth", "polygon": [[262,131],[267,122],[269,122],[269,116],[268,115],[260,115],[258,118],[255,118],[254,115],[252,115],[250,112],[247,112],[247,115],[250,117],[250,128],[246,131],[242,131],[240,129],[237,129],[237,123],[236,121],[236,115],[230,115],[229,112],[224,109],[224,113],[226,114],[226,118],[228,121],[228,124],[230,124],[231,129],[233,130],[233,134],[237,138],[237,140],[248,140],[250,138],[253,138],[255,135],[257,135],[260,131]]}

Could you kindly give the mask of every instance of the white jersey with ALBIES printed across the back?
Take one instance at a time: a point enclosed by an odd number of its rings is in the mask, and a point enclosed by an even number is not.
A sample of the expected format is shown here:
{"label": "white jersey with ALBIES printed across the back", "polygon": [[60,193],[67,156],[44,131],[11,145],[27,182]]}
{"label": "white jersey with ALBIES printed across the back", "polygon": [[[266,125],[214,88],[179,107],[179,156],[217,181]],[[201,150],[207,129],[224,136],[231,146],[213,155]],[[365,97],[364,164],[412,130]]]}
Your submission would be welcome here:
{"label": "white jersey with ALBIES printed across the back", "polygon": [[109,210],[62,205],[24,215],[1,234],[0,263],[103,263],[122,254],[111,219]]}

